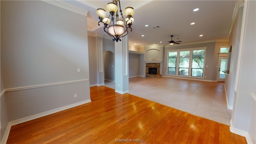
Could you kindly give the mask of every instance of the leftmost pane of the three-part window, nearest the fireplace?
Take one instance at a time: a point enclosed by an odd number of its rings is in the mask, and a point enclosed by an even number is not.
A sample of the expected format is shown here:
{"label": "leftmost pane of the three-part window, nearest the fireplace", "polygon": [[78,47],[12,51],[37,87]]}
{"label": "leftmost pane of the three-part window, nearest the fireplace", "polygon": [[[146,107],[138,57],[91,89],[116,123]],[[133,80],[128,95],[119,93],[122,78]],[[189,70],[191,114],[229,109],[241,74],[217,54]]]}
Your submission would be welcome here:
{"label": "leftmost pane of the three-part window, nearest the fireplace", "polygon": [[168,74],[176,75],[177,52],[169,52]]}

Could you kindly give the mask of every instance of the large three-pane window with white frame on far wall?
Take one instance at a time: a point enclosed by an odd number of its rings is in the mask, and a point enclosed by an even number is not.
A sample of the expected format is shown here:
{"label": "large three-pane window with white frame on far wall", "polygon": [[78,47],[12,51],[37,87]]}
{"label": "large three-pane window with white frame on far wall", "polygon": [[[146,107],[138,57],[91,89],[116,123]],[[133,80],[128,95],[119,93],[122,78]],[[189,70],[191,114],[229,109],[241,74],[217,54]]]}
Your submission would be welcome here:
{"label": "large three-pane window with white frame on far wall", "polygon": [[206,47],[168,51],[168,75],[203,78]]}

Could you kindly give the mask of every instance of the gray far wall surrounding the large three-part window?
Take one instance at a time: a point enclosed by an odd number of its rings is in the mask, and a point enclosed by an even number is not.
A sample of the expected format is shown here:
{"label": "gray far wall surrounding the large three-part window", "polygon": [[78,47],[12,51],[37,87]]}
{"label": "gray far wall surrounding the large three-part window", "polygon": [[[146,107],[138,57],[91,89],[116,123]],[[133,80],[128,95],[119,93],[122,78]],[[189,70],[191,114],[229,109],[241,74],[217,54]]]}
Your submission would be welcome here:
{"label": "gray far wall surrounding the large three-part window", "polygon": [[183,49],[183,48],[197,48],[197,47],[203,47],[207,46],[206,48],[206,59],[205,59],[205,65],[208,65],[208,68],[204,68],[204,80],[210,80],[215,81],[217,80],[217,72],[218,68],[218,50],[215,48],[216,42],[208,42],[208,43],[202,43],[202,44],[191,44],[191,45],[184,45],[184,46],[171,46],[168,48],[164,48],[164,59],[163,59],[163,76],[166,76],[167,74],[167,62],[168,58],[167,51],[168,50],[176,50],[176,49]]}

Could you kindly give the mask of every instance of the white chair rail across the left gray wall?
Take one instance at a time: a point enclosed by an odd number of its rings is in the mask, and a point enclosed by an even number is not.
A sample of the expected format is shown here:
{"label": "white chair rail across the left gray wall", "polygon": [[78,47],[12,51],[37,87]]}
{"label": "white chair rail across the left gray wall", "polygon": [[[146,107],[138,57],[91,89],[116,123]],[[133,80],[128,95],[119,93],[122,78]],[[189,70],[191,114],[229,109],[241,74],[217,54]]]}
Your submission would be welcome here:
{"label": "white chair rail across the left gray wall", "polygon": [[[34,86],[24,86],[24,87],[19,87],[19,88],[8,88],[5,90],[5,92],[12,92],[16,90],[26,90],[26,89],[31,89],[31,88],[41,88],[41,87],[46,87],[46,86],[56,86],[56,85],[62,85],[62,84],[72,84],[72,83],[77,83],[77,82],[87,82],[89,79],[84,79],[84,80],[73,80],[73,81],[68,81],[68,82],[57,82],[57,83],[52,83],[52,84],[40,84],[40,85],[34,85]],[[2,96],[2,94],[1,94]]]}

